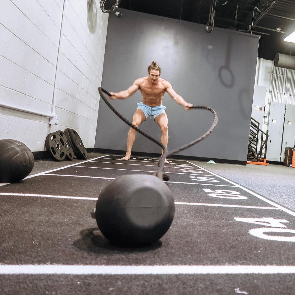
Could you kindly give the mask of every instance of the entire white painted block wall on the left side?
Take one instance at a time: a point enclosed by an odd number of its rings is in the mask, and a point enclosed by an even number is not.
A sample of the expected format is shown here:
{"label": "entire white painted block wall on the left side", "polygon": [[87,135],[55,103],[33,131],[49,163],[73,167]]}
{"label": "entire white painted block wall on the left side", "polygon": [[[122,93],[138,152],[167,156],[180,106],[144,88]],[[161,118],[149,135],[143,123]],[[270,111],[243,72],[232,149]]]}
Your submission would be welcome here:
{"label": "entire white painted block wall on the left side", "polygon": [[89,32],[86,0],[1,0],[0,102],[49,114],[54,100],[59,121],[0,106],[0,139],[41,151],[48,133],[73,128],[94,147],[108,22],[96,2]]}

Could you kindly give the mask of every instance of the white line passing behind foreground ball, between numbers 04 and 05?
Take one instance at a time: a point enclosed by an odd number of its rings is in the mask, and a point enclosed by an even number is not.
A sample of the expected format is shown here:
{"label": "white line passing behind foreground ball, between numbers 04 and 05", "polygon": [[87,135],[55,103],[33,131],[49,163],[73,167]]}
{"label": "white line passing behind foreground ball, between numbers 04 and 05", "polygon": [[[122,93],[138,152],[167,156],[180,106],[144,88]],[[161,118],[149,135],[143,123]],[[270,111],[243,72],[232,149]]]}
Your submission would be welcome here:
{"label": "white line passing behind foreground ball, between numbers 04 and 05", "polygon": [[[57,198],[57,199],[76,199],[76,200],[97,200],[91,197],[76,197],[76,196],[56,196],[45,194],[21,194],[21,193],[0,193],[0,196],[17,196],[17,197],[43,197],[43,198]],[[251,208],[251,209],[269,209],[279,210],[276,207],[258,207],[258,206],[242,206],[242,205],[228,205],[228,204],[208,204],[208,203],[188,203],[188,202],[174,202],[176,205],[192,205],[192,206],[214,206],[214,207],[233,207],[233,208]]]}

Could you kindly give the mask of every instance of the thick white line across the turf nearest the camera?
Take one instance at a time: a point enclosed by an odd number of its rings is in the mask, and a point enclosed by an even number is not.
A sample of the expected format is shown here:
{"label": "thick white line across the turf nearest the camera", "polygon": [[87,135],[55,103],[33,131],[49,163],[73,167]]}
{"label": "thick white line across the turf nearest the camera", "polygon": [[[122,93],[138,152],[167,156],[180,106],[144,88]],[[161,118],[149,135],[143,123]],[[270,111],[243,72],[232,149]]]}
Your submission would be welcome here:
{"label": "thick white line across the turf nearest the camera", "polygon": [[295,266],[273,265],[0,265],[1,275],[177,275],[295,273]]}

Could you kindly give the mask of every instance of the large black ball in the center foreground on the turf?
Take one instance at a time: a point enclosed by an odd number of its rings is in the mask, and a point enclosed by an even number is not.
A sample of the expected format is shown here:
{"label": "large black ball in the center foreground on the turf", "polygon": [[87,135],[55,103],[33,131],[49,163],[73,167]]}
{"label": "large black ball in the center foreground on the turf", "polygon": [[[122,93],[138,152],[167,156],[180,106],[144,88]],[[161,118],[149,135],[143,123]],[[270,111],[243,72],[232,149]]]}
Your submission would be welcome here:
{"label": "large black ball in the center foreground on the turf", "polygon": [[107,185],[96,203],[102,234],[117,245],[141,245],[159,240],[174,217],[168,186],[153,175],[124,175]]}

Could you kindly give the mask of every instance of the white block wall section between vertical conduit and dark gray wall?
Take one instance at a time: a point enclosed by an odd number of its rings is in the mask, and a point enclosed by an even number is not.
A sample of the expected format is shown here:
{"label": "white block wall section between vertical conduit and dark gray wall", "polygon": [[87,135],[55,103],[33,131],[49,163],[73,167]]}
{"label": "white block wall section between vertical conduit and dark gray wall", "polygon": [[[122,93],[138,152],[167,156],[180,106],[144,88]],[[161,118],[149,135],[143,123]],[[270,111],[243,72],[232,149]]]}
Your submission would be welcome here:
{"label": "white block wall section between vertical conduit and dark gray wall", "polygon": [[99,105],[97,87],[101,83],[106,39],[101,38],[101,31],[106,36],[108,17],[98,9],[96,31],[89,33],[86,2],[66,3],[55,96],[59,124],[74,128],[84,145],[93,147]]}

